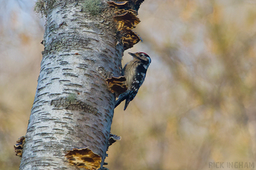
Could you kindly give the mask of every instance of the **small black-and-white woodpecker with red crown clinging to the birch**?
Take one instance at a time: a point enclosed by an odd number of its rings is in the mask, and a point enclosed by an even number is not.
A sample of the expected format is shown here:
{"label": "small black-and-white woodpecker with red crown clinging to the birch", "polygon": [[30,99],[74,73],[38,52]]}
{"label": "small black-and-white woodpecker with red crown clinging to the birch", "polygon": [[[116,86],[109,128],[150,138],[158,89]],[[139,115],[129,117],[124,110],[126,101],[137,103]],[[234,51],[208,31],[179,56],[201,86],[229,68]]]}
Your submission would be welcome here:
{"label": "small black-and-white woodpecker with red crown clinging to the birch", "polygon": [[144,52],[128,52],[128,54],[133,57],[133,60],[123,67],[123,74],[126,78],[125,83],[128,90],[126,90],[125,93],[120,94],[118,100],[115,101],[116,108],[123,100],[125,100],[125,108],[123,110],[127,108],[128,104],[138,93],[138,89],[145,80],[146,70],[148,70],[151,63],[151,58]]}

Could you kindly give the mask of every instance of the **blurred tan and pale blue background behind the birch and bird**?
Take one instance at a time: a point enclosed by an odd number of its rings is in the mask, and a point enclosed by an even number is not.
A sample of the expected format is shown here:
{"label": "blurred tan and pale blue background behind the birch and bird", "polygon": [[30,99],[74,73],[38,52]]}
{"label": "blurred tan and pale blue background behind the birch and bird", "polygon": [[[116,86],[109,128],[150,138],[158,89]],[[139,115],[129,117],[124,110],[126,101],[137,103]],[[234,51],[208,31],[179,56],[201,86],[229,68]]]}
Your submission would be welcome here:
{"label": "blurred tan and pale blue background behind the birch and bird", "polygon": [[[0,0],[0,169],[18,169],[42,59],[32,0]],[[108,169],[256,169],[256,1],[147,0],[134,29],[151,66],[115,109]],[[246,166],[247,164],[247,166]],[[219,164],[220,165],[220,164]],[[250,165],[250,166],[249,166]],[[253,165],[253,166],[252,166]]]}

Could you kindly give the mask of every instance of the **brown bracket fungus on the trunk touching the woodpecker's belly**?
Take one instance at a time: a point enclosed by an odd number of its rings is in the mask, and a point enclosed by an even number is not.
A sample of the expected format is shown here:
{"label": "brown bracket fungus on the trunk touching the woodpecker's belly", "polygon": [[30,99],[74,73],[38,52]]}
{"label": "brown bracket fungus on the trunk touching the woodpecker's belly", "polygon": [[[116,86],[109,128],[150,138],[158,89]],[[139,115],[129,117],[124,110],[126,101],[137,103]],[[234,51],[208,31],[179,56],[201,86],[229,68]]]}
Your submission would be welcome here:
{"label": "brown bracket fungus on the trunk touching the woodpecker's belly", "polygon": [[125,85],[126,78],[124,76],[111,77],[106,81],[108,88],[110,88],[111,93],[115,93],[115,96],[119,96],[127,90],[127,86]]}

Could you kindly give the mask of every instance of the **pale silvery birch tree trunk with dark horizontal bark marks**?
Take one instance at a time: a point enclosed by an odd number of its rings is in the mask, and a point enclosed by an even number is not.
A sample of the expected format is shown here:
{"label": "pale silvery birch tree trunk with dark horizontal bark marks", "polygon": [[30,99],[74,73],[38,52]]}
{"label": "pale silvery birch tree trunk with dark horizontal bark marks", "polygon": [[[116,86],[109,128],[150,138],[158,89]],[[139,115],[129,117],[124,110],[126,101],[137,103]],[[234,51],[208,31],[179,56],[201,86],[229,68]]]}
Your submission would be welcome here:
{"label": "pale silvery birch tree trunk with dark horizontal bark marks", "polygon": [[100,169],[115,103],[105,79],[120,76],[124,50],[115,8],[104,1],[93,16],[84,1],[39,3],[45,49],[19,169]]}

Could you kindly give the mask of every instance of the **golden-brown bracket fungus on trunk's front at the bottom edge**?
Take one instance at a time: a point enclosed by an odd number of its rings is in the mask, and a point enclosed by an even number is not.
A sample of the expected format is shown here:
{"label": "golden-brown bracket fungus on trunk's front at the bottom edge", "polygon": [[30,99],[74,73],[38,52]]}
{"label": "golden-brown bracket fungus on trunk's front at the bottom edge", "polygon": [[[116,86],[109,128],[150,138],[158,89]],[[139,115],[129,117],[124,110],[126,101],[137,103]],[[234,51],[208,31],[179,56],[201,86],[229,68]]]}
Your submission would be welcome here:
{"label": "golden-brown bracket fungus on trunk's front at the bottom edge", "polygon": [[77,166],[79,169],[100,169],[102,158],[89,148],[74,148],[65,155],[69,164]]}

